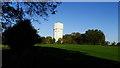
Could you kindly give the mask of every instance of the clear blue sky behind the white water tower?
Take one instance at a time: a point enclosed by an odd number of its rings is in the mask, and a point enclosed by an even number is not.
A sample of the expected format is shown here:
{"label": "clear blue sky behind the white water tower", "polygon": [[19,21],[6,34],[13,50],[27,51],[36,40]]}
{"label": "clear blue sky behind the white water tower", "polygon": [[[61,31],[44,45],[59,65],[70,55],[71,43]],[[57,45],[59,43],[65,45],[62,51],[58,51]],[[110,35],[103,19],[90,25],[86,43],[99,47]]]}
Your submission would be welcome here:
{"label": "clear blue sky behind the white water tower", "polygon": [[48,21],[35,23],[40,28],[40,36],[53,37],[53,24],[62,22],[64,34],[72,32],[85,33],[88,29],[99,29],[104,32],[106,41],[118,42],[118,3],[117,2],[63,2],[56,15]]}

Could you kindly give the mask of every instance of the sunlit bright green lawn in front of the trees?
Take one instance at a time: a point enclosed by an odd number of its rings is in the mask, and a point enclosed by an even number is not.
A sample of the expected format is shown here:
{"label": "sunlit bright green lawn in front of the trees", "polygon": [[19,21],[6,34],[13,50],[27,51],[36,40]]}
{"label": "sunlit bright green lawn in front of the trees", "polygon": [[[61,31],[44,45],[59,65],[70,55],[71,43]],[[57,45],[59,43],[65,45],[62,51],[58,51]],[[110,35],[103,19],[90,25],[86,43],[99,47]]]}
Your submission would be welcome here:
{"label": "sunlit bright green lawn in front of the trees", "polygon": [[120,61],[118,60],[118,47],[115,46],[95,46],[95,45],[77,45],[77,44],[36,44],[35,46],[54,47],[65,50],[79,51],[86,55]]}

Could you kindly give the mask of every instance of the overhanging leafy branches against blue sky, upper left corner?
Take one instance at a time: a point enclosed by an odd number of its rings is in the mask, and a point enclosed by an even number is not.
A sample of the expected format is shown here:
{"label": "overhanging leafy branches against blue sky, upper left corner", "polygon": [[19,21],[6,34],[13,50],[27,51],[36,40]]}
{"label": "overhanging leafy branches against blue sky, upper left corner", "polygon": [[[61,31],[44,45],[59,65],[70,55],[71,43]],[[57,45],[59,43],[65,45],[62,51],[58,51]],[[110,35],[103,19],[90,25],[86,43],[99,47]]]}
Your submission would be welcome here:
{"label": "overhanging leafy branches against blue sky, upper left corner", "polygon": [[61,2],[2,2],[2,28],[7,29],[20,20],[40,16],[44,20],[56,14]]}

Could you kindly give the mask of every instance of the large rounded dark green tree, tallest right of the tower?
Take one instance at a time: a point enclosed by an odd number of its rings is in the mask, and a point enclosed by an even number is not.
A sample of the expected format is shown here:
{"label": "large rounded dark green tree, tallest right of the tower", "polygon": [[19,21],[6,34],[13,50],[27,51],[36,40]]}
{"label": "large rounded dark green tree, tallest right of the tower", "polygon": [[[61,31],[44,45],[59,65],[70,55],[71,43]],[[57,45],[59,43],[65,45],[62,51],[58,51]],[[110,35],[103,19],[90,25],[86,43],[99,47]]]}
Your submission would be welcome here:
{"label": "large rounded dark green tree, tallest right of the tower", "polygon": [[86,31],[87,41],[92,45],[104,45],[105,35],[101,30],[88,30]]}

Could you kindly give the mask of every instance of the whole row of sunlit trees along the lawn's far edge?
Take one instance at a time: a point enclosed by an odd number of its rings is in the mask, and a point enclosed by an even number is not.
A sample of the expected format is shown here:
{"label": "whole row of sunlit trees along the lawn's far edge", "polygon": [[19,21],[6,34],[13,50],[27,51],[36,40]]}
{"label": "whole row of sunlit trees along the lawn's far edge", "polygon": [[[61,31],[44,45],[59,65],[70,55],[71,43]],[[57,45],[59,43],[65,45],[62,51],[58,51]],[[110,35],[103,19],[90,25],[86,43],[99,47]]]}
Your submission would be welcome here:
{"label": "whole row of sunlit trees along the lawn's far edge", "polygon": [[105,41],[105,35],[101,30],[87,30],[85,34],[79,32],[73,32],[71,34],[65,34],[63,38],[60,38],[57,42],[52,37],[41,37],[43,44],[84,44],[84,45],[107,45]]}

